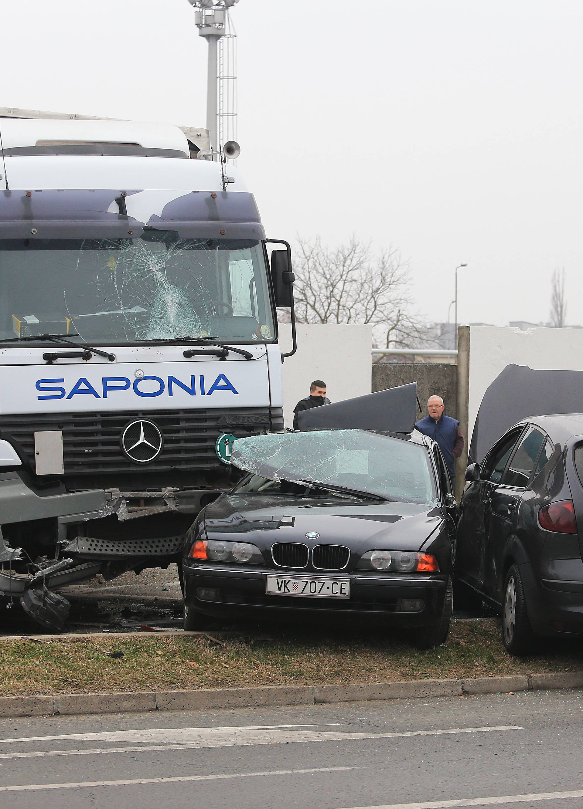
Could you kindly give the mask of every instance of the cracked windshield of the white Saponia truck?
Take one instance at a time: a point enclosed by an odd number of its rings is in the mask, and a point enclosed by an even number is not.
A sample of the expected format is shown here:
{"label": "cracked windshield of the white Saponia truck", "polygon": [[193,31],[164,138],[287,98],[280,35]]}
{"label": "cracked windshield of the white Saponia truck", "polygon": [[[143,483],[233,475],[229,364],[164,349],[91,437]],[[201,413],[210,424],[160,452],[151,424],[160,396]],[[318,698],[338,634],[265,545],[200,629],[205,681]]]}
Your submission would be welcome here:
{"label": "cracked windshield of the white Saponia truck", "polygon": [[274,337],[256,241],[7,240],[0,244],[0,340],[79,334],[94,343]]}

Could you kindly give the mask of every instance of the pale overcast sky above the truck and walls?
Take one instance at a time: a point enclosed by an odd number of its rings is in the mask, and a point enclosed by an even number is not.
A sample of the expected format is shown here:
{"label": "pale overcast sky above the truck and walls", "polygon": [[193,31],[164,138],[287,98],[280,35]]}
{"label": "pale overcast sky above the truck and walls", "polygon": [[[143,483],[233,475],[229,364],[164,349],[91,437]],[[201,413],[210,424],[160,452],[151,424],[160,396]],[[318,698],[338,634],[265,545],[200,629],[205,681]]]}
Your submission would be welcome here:
{"label": "pale overcast sky above the truck and walls", "polygon": [[[240,0],[237,163],[268,235],[352,232],[410,261],[416,306],[583,323],[581,0]],[[206,124],[187,0],[2,4],[0,106]],[[453,320],[453,308],[452,308]]]}

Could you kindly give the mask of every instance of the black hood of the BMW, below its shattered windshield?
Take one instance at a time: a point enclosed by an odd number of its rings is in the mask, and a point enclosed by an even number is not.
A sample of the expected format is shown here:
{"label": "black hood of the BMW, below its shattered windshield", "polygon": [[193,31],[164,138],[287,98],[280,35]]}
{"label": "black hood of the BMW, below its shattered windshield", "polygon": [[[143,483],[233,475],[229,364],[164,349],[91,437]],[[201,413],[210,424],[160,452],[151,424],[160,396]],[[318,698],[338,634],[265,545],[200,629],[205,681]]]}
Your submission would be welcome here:
{"label": "black hood of the BMW, below its shattered windshield", "polygon": [[[223,494],[203,512],[208,539],[342,544],[351,549],[419,550],[444,520],[439,506],[403,502]],[[317,537],[308,538],[309,533]],[[372,544],[371,544],[372,543]]]}

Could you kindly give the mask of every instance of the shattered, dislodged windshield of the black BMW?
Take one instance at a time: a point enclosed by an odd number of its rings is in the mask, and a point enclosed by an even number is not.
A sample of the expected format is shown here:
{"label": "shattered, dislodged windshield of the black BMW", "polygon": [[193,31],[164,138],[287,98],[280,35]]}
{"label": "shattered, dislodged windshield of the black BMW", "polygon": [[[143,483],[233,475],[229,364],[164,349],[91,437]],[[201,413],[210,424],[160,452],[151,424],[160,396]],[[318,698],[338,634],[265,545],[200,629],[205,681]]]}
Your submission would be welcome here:
{"label": "shattered, dislodged windshield of the black BMW", "polygon": [[238,438],[231,460],[273,481],[328,484],[404,502],[436,502],[437,497],[425,447],[367,430]]}

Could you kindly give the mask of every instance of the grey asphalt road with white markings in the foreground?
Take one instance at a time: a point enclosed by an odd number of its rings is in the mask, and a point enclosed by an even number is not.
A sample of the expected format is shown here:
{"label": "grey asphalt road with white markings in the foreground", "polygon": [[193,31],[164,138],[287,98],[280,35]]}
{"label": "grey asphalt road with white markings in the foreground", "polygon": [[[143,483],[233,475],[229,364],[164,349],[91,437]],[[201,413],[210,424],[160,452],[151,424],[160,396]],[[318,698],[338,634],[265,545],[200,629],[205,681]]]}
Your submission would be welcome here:
{"label": "grey asphalt road with white markings in the foreground", "polygon": [[3,719],[0,806],[578,809],[582,718],[564,691]]}

